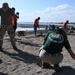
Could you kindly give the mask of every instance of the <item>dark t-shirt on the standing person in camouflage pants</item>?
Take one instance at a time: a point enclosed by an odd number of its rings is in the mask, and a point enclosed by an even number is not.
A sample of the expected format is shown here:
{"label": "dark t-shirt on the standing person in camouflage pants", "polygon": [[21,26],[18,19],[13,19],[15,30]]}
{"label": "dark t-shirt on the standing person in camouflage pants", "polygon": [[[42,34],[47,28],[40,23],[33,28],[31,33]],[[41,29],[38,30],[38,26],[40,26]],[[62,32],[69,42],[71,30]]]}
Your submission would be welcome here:
{"label": "dark t-shirt on the standing person in camouflage pants", "polygon": [[1,16],[1,24],[9,25],[12,24],[12,16],[14,16],[14,12],[11,8],[8,8],[7,11],[4,11],[0,8],[0,16]]}

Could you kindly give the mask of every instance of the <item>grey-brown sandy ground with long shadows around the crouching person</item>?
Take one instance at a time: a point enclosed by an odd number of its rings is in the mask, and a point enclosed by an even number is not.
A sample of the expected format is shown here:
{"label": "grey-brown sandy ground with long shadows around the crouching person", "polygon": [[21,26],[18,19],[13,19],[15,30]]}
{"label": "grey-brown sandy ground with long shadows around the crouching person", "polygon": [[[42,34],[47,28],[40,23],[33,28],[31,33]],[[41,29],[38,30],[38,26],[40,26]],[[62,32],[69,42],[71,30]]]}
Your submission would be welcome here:
{"label": "grey-brown sandy ground with long shadows around the crouching person", "polygon": [[[4,36],[3,51],[0,51],[0,75],[75,75],[75,60],[65,48],[64,59],[60,66],[62,70],[55,72],[51,69],[42,69],[39,58],[39,48],[44,36],[35,37],[34,34],[15,36],[17,50],[12,48],[8,35]],[[72,50],[75,53],[75,34],[68,35]]]}

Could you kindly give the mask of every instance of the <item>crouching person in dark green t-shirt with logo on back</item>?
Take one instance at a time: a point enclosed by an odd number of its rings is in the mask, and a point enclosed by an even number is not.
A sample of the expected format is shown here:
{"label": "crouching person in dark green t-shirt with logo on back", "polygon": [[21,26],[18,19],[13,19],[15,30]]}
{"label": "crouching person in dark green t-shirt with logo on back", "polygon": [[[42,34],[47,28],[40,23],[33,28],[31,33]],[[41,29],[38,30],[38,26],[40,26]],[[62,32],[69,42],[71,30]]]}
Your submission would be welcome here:
{"label": "crouching person in dark green t-shirt with logo on back", "polygon": [[60,71],[59,63],[63,60],[62,49],[65,47],[70,56],[75,60],[67,35],[63,29],[50,30],[45,36],[39,57],[42,60],[43,68],[50,68],[52,64],[55,71]]}

